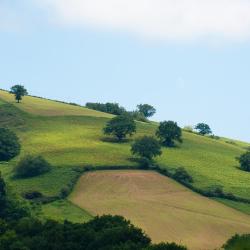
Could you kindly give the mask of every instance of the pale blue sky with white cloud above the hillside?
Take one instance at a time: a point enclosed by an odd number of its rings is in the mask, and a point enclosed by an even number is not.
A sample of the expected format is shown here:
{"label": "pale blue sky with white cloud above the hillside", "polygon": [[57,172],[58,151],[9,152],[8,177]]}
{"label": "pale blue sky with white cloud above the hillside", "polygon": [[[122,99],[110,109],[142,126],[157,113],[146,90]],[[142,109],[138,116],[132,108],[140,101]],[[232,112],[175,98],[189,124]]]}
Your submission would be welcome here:
{"label": "pale blue sky with white cloud above the hillside", "polygon": [[249,0],[0,0],[0,88],[156,107],[250,142]]}

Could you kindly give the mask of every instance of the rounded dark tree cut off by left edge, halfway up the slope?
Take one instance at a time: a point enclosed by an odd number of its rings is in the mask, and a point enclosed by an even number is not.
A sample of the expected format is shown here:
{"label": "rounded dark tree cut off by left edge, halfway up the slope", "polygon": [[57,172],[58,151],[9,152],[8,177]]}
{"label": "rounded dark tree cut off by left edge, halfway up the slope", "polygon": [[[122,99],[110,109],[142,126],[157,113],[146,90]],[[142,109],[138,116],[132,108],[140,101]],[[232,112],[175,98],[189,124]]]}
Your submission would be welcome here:
{"label": "rounded dark tree cut off by left edge, halfway up the slope", "polygon": [[0,161],[9,161],[20,153],[18,137],[7,128],[0,128]]}

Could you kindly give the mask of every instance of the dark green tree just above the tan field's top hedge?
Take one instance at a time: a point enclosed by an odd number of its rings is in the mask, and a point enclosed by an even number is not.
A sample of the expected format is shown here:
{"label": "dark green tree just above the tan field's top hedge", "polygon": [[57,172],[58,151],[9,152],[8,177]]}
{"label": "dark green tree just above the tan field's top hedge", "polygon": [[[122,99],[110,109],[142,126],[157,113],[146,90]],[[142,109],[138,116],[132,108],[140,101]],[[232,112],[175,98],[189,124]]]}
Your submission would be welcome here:
{"label": "dark green tree just above the tan field's top hedge", "polygon": [[140,157],[152,160],[153,157],[161,155],[161,145],[152,136],[143,136],[135,140],[131,146],[131,152],[133,155],[139,155]]}

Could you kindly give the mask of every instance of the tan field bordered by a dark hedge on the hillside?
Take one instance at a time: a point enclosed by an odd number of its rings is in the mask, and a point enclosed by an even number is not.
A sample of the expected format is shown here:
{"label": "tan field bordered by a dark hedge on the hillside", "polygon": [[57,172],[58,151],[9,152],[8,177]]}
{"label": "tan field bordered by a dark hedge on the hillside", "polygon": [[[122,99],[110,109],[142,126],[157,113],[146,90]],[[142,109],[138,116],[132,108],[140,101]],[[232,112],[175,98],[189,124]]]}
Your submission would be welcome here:
{"label": "tan field bordered by a dark hedge on the hillside", "polygon": [[250,216],[151,171],[85,174],[70,200],[93,215],[123,215],[154,242],[174,241],[191,250],[219,248],[235,233],[250,232]]}

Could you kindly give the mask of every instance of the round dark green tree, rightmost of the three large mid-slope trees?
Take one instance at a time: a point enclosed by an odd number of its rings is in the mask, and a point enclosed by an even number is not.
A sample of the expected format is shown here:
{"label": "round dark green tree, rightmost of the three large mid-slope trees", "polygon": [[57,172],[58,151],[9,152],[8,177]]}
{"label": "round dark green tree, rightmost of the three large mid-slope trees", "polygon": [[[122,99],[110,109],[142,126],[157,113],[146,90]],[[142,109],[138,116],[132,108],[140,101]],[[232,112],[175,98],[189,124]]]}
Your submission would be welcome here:
{"label": "round dark green tree, rightmost of the three large mid-slope trees", "polygon": [[161,143],[167,147],[173,147],[175,144],[174,141],[182,143],[181,128],[173,121],[160,122],[156,136],[160,139]]}

